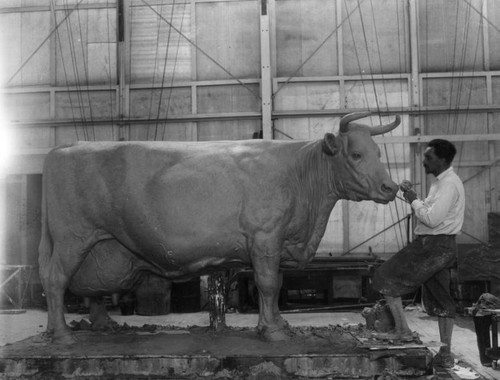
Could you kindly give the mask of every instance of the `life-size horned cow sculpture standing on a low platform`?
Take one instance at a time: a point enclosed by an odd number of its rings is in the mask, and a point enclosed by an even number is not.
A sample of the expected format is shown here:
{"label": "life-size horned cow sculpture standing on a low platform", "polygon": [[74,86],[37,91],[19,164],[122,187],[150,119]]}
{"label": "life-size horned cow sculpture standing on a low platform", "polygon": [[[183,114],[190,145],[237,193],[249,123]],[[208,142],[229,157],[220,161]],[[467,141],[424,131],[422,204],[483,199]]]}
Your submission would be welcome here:
{"label": "life-size horned cow sculpture standing on a low platform", "polygon": [[279,271],[313,258],[339,199],[386,204],[398,186],[368,127],[340,121],[317,141],[82,142],[51,151],[43,172],[40,277],[47,330],[75,341],[63,314],[77,295],[133,286],[141,271],[169,280],[251,266],[259,332],[288,339]]}

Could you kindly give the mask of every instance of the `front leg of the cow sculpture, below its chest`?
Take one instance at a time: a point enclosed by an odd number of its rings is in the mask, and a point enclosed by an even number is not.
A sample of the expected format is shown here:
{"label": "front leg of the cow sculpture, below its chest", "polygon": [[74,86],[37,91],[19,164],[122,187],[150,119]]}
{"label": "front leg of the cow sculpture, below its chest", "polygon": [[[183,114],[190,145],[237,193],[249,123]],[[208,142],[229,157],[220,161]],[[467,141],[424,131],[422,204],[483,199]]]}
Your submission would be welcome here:
{"label": "front leg of the cow sculpture, below its chest", "polygon": [[279,275],[279,251],[269,249],[269,241],[263,244],[265,249],[255,249],[252,260],[255,284],[259,291],[259,332],[270,341],[287,340],[289,336],[283,330],[286,325],[278,309],[281,281]]}

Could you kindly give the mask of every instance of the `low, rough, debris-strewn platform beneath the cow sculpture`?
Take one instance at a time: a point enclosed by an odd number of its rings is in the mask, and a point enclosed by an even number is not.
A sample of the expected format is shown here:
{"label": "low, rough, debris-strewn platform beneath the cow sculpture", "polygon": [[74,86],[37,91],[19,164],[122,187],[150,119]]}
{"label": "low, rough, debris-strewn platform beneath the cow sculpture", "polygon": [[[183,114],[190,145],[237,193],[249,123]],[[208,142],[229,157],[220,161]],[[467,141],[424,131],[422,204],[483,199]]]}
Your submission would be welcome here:
{"label": "low, rough, debris-strewn platform beneath the cow sculpture", "polygon": [[[149,331],[148,331],[149,329]],[[432,373],[423,345],[362,344],[355,328],[292,328],[288,342],[268,343],[255,329],[206,327],[81,331],[78,344],[54,345],[35,336],[0,348],[2,379],[359,379]]]}

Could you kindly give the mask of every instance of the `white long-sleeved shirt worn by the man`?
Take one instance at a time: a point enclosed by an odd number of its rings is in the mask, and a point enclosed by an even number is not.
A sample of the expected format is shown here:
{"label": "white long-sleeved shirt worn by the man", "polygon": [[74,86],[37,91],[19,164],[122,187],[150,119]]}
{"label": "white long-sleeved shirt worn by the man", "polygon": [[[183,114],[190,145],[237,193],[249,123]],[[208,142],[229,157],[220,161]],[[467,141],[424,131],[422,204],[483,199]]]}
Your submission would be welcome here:
{"label": "white long-sleeved shirt worn by the man", "polygon": [[464,223],[465,191],[450,167],[436,177],[424,201],[411,203],[417,217],[416,235],[456,235]]}

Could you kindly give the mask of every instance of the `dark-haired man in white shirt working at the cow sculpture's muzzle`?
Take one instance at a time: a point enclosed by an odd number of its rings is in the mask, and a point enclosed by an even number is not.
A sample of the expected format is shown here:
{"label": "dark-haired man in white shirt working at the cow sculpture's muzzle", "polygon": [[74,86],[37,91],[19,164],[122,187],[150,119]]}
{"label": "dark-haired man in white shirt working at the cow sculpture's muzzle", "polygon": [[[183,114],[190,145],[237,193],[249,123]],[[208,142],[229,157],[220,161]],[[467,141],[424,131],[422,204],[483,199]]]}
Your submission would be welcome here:
{"label": "dark-haired man in white shirt working at the cow sculpture's muzzle", "polygon": [[417,219],[415,240],[382,264],[373,278],[374,288],[385,296],[394,316],[395,330],[385,336],[389,339],[413,338],[401,296],[423,285],[426,312],[438,317],[444,344],[434,363],[444,367],[453,366],[451,335],[456,306],[450,294],[450,270],[456,263],[455,235],[462,228],[465,209],[464,186],[451,166],[455,154],[455,146],[447,140],[436,139],[427,145],[423,166],[426,174],[436,177],[429,195],[422,201],[413,189],[402,188]]}

